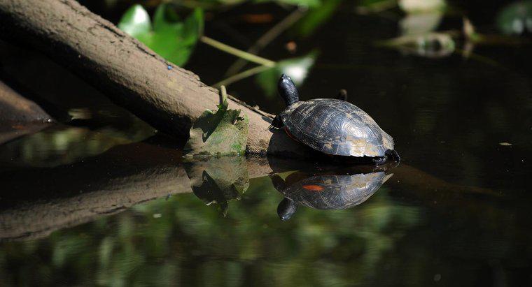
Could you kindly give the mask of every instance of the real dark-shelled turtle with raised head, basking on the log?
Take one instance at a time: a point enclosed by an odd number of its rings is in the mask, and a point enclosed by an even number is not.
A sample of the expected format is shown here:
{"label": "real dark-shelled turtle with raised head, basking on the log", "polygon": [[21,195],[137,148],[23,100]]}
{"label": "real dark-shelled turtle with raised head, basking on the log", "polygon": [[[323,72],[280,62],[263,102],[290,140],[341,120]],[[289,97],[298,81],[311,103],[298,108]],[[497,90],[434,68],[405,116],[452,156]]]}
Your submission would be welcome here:
{"label": "real dark-shelled turtle with raised head, basking on the log", "polygon": [[285,74],[277,87],[286,109],[270,128],[283,128],[290,138],[324,154],[366,156],[377,164],[400,161],[393,138],[356,105],[339,98],[300,101],[297,87]]}

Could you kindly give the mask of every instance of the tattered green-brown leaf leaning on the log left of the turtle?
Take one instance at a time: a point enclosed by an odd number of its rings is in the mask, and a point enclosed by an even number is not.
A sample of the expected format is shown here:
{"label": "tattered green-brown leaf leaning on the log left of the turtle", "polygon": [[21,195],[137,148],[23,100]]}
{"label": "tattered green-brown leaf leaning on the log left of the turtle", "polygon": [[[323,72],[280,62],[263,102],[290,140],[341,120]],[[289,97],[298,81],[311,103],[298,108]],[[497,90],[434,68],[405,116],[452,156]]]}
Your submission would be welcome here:
{"label": "tattered green-brown leaf leaning on the log left of the turtle", "polygon": [[[223,94],[225,87],[222,87]],[[228,110],[225,97],[218,110],[206,110],[190,128],[183,153],[186,157],[244,154],[248,135],[248,117],[240,110]]]}

